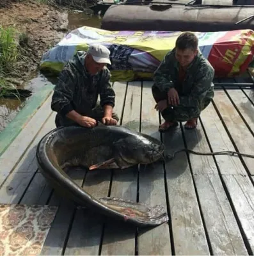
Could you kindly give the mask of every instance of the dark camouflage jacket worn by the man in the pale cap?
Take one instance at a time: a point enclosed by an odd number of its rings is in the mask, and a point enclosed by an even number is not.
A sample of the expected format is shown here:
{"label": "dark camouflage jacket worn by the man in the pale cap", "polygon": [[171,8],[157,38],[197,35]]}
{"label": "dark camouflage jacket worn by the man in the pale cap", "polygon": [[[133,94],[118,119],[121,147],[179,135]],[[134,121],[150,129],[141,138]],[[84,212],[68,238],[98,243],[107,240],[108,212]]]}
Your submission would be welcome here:
{"label": "dark camouflage jacket worn by the man in the pale cap", "polygon": [[58,77],[51,102],[51,109],[58,115],[64,117],[72,110],[86,115],[95,108],[99,95],[100,106],[108,104],[115,107],[115,92],[109,83],[109,70],[104,67],[95,76],[91,76],[84,67],[85,56],[86,52],[77,51]]}

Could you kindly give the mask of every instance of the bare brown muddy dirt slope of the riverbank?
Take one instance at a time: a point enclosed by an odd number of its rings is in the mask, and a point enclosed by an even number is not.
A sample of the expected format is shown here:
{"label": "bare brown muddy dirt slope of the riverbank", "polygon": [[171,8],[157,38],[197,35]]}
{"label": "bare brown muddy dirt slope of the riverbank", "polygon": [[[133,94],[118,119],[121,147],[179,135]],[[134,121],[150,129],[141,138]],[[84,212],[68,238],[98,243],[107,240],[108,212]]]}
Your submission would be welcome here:
{"label": "bare brown muddy dirt slope of the riverbank", "polygon": [[14,26],[20,33],[17,42],[22,57],[17,67],[24,80],[38,68],[42,54],[67,33],[68,14],[36,0],[1,0],[0,24]]}

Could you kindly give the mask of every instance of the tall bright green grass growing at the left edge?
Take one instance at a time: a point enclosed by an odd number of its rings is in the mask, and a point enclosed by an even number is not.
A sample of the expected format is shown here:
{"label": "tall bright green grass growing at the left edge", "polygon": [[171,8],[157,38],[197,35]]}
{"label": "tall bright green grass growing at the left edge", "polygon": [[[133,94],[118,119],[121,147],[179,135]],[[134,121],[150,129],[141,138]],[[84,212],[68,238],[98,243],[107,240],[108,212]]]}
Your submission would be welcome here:
{"label": "tall bright green grass growing at the left edge", "polygon": [[17,74],[15,63],[19,58],[19,48],[16,41],[17,31],[11,26],[0,26],[0,97],[3,97],[8,89],[15,89],[5,77]]}

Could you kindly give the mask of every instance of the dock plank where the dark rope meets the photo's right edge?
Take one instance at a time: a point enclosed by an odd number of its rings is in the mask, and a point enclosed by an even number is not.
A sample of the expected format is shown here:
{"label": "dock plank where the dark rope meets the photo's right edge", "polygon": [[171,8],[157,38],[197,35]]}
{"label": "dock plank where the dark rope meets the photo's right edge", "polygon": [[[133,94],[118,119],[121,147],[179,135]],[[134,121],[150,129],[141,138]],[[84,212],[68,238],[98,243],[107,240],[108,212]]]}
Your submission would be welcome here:
{"label": "dock plank where the dark rope meets the photo's right edge", "polygon": [[[226,93],[222,90],[216,91],[214,102],[239,152],[251,154],[254,151],[253,135],[242,121],[241,116],[239,116],[239,113],[237,113],[228,97],[226,97]],[[248,157],[242,158],[248,166],[248,170],[253,175],[254,159]]]}

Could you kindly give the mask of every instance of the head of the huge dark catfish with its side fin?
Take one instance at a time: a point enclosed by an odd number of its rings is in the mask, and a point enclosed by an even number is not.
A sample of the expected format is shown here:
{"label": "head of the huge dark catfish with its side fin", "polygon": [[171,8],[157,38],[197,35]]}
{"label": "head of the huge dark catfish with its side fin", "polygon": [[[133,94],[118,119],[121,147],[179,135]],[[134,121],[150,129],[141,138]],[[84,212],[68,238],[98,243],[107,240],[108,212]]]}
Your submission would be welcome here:
{"label": "head of the huge dark catfish with its side fin", "polygon": [[163,158],[164,145],[146,134],[130,134],[113,143],[113,158],[90,166],[97,168],[125,169],[136,164],[150,164]]}

